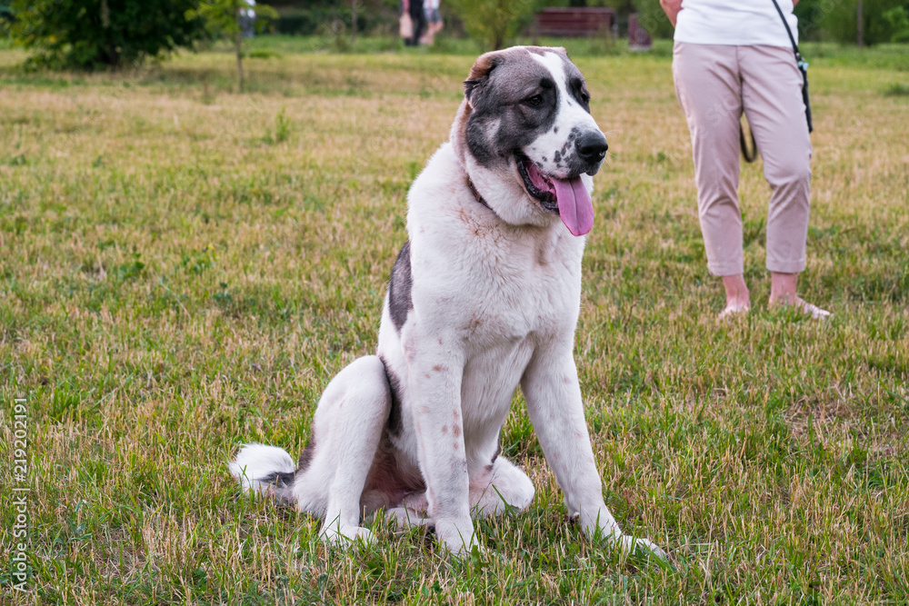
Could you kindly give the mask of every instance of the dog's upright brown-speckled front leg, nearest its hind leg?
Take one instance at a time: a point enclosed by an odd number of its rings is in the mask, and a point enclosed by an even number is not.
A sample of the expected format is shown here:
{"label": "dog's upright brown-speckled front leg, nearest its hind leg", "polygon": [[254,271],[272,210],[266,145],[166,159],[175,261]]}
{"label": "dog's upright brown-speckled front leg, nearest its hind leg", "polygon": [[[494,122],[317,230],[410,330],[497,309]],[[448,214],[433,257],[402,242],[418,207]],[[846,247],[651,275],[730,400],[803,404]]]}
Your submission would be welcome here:
{"label": "dog's upright brown-speckled front leg, nearest its hind leg", "polygon": [[405,343],[411,343],[413,348],[407,355],[406,397],[414,415],[429,517],[445,549],[454,553],[470,551],[476,538],[470,517],[470,482],[461,414],[464,361],[437,345],[442,342],[435,336]]}

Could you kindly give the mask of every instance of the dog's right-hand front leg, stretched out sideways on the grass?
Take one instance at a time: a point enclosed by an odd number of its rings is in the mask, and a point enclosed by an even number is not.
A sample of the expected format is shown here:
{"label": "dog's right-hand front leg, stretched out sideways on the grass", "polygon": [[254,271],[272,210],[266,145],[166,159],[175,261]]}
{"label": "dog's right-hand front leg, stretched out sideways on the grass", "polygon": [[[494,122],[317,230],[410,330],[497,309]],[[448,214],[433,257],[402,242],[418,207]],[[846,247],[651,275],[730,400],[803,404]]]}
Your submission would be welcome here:
{"label": "dog's right-hand front leg, stretched out sideways on the grass", "polygon": [[584,421],[572,343],[535,352],[524,372],[521,389],[546,462],[564,492],[568,514],[579,518],[584,534],[619,541],[626,552],[639,544],[664,557],[663,551],[650,541],[623,535],[606,507],[603,481]]}

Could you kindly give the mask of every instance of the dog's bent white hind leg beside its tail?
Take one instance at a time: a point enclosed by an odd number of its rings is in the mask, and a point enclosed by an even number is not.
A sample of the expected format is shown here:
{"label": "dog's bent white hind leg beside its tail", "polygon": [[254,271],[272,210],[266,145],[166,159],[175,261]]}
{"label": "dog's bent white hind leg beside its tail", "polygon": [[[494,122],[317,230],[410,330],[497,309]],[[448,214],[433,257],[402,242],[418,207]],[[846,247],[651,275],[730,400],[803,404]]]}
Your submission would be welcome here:
{"label": "dog's bent white hind leg beside its tail", "polygon": [[301,461],[294,497],[300,511],[324,517],[326,542],[375,541],[360,526],[361,496],[390,410],[385,366],[376,356],[350,363],[325,388],[313,420],[315,448]]}

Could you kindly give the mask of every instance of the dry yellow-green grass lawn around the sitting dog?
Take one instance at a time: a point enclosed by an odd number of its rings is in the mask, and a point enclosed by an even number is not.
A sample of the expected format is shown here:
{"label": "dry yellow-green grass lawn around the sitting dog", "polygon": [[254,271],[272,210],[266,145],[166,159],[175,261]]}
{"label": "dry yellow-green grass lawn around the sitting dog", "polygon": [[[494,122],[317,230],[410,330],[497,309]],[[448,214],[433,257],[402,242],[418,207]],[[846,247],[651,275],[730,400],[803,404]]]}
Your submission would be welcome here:
{"label": "dry yellow-green grass lawn around the sitting dog", "polygon": [[740,190],[754,308],[724,325],[668,53],[576,54],[611,145],[576,358],[606,501],[671,569],[564,520],[520,396],[502,442],[537,497],[479,524],[486,555],[375,521],[379,547],[327,550],[317,521],[238,498],[235,446],[300,452],[325,384],[375,349],[406,190],[473,54],[255,44],[272,52],[242,95],[216,52],[122,75],[26,75],[0,52],[0,601],[909,601],[907,105],[885,94],[905,53],[812,59],[800,288],[834,319],[766,308],[758,162]]}

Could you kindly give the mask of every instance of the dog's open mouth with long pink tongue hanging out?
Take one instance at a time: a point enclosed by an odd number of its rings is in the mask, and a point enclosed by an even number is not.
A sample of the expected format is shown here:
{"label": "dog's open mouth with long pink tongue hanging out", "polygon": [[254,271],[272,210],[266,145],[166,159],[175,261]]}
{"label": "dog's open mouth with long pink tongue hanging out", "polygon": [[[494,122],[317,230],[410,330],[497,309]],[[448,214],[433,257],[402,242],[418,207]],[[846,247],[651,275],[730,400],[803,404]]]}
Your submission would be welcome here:
{"label": "dog's open mouth with long pink tongue hanging out", "polygon": [[530,158],[514,153],[517,172],[524,180],[524,189],[539,201],[549,213],[558,213],[562,223],[574,235],[584,235],[594,226],[594,204],[580,176],[570,179],[543,174]]}

